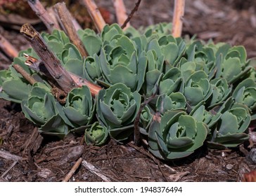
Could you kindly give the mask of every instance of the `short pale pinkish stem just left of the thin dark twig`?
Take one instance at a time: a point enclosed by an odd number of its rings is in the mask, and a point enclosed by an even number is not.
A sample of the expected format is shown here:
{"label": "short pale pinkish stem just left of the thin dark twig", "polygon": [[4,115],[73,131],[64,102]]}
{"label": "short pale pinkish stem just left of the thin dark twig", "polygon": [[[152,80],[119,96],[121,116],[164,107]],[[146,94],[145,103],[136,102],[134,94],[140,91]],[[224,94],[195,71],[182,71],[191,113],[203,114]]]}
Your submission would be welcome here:
{"label": "short pale pinkish stem just left of the thin dark twig", "polygon": [[[127,10],[124,6],[124,1],[122,0],[113,0],[115,7],[115,15],[117,16],[117,23],[121,26],[124,24],[124,21],[127,20]],[[130,23],[128,22],[126,27],[129,27]]]}

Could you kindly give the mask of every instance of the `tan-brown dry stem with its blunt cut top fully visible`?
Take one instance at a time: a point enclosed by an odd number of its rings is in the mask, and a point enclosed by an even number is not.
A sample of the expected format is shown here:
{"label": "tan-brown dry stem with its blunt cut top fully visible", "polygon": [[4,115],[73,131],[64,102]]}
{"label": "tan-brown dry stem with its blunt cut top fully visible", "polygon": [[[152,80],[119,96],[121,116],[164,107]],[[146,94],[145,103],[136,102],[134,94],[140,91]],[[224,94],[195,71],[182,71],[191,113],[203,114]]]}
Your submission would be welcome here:
{"label": "tan-brown dry stem with its blunt cut top fully visible", "polygon": [[59,22],[63,29],[65,29],[65,32],[68,34],[70,41],[77,46],[77,49],[82,56],[87,57],[87,51],[85,50],[84,44],[77,34],[77,31],[72,23],[72,16],[68,8],[65,6],[65,3],[57,3],[54,8],[58,14]]}

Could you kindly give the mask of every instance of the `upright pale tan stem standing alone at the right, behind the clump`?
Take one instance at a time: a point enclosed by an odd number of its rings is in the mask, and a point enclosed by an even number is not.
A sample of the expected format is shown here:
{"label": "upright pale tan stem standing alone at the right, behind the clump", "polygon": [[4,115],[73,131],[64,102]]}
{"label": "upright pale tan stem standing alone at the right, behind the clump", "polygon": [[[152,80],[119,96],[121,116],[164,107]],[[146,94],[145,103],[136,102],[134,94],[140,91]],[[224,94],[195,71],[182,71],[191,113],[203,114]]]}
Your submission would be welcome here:
{"label": "upright pale tan stem standing alone at the right, behind the clump", "polygon": [[174,37],[181,36],[184,9],[185,9],[185,0],[174,1],[174,15],[172,20],[172,35]]}

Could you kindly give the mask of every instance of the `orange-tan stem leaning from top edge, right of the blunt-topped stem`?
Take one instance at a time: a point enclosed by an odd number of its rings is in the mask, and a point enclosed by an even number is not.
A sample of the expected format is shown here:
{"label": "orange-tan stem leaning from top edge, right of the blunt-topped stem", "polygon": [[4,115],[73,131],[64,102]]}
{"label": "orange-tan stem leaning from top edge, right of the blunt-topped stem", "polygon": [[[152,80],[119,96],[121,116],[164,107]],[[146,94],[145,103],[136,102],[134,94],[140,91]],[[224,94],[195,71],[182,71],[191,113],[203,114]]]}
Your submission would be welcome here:
{"label": "orange-tan stem leaning from top edge, right of the blunt-topped stem", "polygon": [[94,2],[94,0],[83,0],[83,2],[84,5],[87,7],[87,11],[91,16],[91,19],[94,21],[96,29],[98,30],[98,32],[101,32],[103,27],[105,26],[105,21],[100,11],[98,10],[96,3]]}

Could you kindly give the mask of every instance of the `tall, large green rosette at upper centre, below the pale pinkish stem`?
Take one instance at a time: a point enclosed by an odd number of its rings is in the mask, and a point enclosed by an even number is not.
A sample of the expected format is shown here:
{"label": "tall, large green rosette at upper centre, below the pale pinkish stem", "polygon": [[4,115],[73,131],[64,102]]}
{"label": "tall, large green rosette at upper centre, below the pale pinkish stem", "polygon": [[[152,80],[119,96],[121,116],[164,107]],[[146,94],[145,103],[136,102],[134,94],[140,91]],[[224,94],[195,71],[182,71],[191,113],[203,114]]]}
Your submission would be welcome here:
{"label": "tall, large green rosette at upper centre, below the pale pinkish stem", "polygon": [[134,43],[118,25],[105,26],[101,38],[103,48],[99,61],[103,81],[108,85],[124,83],[133,92],[139,91],[145,78],[145,52],[137,55]]}

